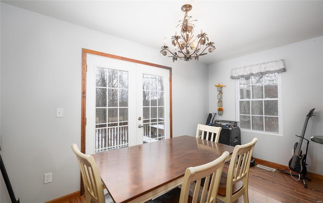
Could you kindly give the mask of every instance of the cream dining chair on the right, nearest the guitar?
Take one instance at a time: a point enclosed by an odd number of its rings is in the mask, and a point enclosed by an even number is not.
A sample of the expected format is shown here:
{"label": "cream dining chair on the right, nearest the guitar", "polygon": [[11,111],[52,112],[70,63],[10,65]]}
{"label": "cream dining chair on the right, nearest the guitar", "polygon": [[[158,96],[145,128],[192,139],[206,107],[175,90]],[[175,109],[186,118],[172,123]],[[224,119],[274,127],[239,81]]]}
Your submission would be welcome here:
{"label": "cream dining chair on the right, nearest the guitar", "polygon": [[218,199],[224,202],[234,202],[243,195],[244,202],[249,202],[248,198],[248,176],[250,160],[253,148],[258,141],[253,138],[251,142],[234,147],[228,172],[222,172]]}

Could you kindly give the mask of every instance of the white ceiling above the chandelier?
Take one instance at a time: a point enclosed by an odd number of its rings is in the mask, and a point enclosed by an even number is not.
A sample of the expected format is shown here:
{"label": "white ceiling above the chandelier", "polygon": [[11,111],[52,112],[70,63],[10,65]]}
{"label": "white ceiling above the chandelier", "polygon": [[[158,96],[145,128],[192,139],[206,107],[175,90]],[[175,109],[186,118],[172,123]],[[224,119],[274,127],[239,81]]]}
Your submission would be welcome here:
{"label": "white ceiling above the chandelier", "polygon": [[[211,64],[323,35],[323,1],[3,1],[1,2],[136,42],[157,51],[170,44],[189,12],[216,50]],[[171,59],[170,59],[171,60]]]}

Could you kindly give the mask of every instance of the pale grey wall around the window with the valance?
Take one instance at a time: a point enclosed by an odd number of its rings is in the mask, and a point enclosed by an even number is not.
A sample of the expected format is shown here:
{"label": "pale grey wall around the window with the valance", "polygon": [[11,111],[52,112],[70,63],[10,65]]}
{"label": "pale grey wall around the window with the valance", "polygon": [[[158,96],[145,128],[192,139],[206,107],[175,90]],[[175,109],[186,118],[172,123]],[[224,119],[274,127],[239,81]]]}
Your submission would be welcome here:
{"label": "pale grey wall around the window with the valance", "polygon": [[[236,120],[235,80],[230,79],[231,68],[261,62],[284,59],[286,72],[282,78],[283,136],[242,131],[241,142],[247,143],[258,138],[254,157],[288,166],[292,148],[301,135],[309,110],[315,108],[315,116],[310,118],[305,131],[309,140],[307,170],[323,175],[323,146],[312,142],[311,136],[323,135],[323,36],[289,44],[247,56],[234,58],[209,65],[209,111],[217,108],[217,90],[214,84],[223,82],[223,116],[221,120]],[[302,144],[305,152],[306,141]]]}

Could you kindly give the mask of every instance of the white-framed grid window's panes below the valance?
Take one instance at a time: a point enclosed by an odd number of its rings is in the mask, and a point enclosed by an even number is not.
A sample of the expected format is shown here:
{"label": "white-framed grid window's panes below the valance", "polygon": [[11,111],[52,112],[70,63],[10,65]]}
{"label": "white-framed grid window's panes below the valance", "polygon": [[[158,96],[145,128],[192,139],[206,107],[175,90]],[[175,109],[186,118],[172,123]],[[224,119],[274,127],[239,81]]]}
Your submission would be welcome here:
{"label": "white-framed grid window's panes below the valance", "polygon": [[240,128],[275,134],[282,132],[280,74],[241,77],[236,83]]}

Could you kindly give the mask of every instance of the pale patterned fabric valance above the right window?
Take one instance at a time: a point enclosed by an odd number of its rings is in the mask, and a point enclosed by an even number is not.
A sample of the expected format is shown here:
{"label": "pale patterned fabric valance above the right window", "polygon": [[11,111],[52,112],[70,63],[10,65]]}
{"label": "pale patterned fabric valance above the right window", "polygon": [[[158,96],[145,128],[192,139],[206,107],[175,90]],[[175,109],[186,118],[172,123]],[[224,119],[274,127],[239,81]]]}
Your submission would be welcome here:
{"label": "pale patterned fabric valance above the right window", "polygon": [[254,65],[243,66],[231,69],[231,79],[239,79],[243,77],[250,77],[256,75],[263,75],[267,73],[281,73],[285,72],[285,62],[283,59],[276,61],[268,61]]}

